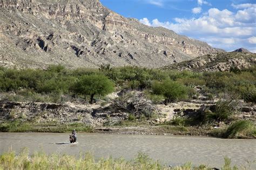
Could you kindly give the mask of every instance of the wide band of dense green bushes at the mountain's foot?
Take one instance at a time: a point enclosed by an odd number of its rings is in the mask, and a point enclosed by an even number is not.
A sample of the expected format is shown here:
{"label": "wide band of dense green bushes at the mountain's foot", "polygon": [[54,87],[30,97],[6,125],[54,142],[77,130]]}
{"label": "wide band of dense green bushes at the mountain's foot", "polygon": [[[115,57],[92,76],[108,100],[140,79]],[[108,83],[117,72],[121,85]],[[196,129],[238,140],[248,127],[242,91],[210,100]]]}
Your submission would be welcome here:
{"label": "wide band of dense green bushes at the mountain's foot", "polygon": [[[0,91],[17,92],[27,89],[36,93],[64,93],[70,94],[72,84],[76,79],[85,75],[104,74],[111,79],[118,89],[151,89],[154,81],[163,82],[166,79],[178,81],[181,88],[185,86],[201,86],[205,93],[235,93],[236,98],[255,102],[256,100],[256,67],[233,72],[204,72],[173,71],[145,69],[125,66],[111,68],[109,65],[100,69],[68,70],[60,65],[51,65],[46,70],[32,69],[6,69],[0,67]],[[193,90],[189,90],[190,97],[196,97]]]}

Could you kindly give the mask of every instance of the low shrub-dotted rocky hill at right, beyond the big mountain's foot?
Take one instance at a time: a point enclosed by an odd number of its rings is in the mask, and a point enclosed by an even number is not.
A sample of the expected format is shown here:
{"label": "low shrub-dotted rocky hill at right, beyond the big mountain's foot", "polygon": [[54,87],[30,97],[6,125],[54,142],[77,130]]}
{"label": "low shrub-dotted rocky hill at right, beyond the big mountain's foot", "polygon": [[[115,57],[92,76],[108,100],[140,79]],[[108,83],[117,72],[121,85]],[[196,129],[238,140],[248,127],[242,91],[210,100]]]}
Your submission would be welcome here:
{"label": "low shrub-dotted rocky hill at right, beyond the big mountain's foot", "polygon": [[247,69],[256,64],[256,53],[223,52],[205,55],[181,63],[163,67],[163,69],[188,71],[230,71]]}

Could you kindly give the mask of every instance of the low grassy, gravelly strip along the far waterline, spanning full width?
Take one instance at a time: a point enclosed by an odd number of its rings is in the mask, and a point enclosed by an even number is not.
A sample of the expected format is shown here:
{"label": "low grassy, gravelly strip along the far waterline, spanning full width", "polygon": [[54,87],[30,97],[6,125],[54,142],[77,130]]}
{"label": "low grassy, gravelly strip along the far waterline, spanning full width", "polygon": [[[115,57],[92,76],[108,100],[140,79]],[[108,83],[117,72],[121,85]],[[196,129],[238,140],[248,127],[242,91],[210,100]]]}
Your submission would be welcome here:
{"label": "low grassy, gravelly strip along the far waterline, spanning full width", "polygon": [[[203,137],[225,138],[227,128],[211,129],[210,127],[193,127],[193,126],[173,126],[173,125],[144,125],[140,123],[138,126],[102,126],[92,127],[81,123],[57,124],[51,123],[31,123],[23,121],[13,121],[0,125],[0,132],[48,132],[48,133],[70,133],[73,129],[77,133],[104,133],[104,134],[135,134],[135,135],[191,135]],[[247,132],[239,129],[233,136],[238,139],[256,139],[255,130]],[[254,128],[254,127],[253,127]],[[241,131],[246,131],[243,133]]]}

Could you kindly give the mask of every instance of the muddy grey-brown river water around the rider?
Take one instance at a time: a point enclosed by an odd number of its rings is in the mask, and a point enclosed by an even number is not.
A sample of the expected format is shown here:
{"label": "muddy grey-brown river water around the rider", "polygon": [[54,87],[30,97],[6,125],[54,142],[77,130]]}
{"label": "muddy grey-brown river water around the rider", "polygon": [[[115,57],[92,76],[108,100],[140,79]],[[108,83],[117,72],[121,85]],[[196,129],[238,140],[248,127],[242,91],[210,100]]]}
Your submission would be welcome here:
{"label": "muddy grey-brown river water around the rider", "polygon": [[[17,153],[27,147],[30,153],[44,151],[79,155],[92,152],[96,158],[123,157],[131,160],[138,152],[166,165],[182,165],[191,161],[220,167],[224,157],[232,164],[256,160],[256,140],[185,137],[176,135],[78,134],[77,144],[69,144],[66,133],[0,133],[0,153],[10,148]],[[256,166],[254,165],[253,167]]]}

